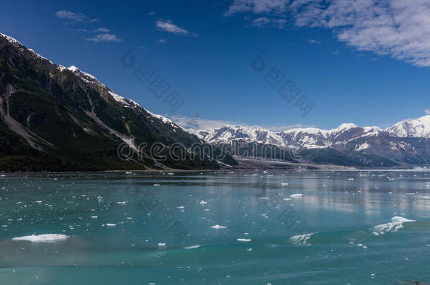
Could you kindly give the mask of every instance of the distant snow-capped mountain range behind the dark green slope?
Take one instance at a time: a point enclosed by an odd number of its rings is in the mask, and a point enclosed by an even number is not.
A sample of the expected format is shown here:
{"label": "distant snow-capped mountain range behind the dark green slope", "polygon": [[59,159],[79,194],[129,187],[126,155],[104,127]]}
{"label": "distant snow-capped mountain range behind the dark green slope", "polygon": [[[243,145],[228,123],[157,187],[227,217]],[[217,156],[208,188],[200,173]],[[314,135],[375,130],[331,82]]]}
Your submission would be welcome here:
{"label": "distant snow-capped mountain range behind the dark green slope", "polygon": [[209,144],[238,157],[358,167],[393,167],[430,163],[430,115],[388,127],[296,128],[280,132],[243,126],[198,130]]}

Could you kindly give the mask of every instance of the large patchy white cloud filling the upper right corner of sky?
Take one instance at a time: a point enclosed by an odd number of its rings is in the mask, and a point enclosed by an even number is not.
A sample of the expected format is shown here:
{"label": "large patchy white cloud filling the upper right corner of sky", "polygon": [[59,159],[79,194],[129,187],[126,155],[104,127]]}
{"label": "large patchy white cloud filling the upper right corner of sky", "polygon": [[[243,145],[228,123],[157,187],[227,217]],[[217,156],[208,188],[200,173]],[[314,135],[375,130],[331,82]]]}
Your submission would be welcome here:
{"label": "large patchy white cloud filling the upper right corner of sky", "polygon": [[224,15],[244,12],[288,14],[297,26],[332,29],[359,51],[430,66],[429,0],[234,0]]}

